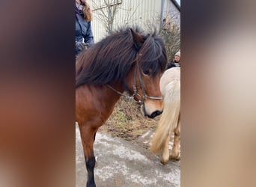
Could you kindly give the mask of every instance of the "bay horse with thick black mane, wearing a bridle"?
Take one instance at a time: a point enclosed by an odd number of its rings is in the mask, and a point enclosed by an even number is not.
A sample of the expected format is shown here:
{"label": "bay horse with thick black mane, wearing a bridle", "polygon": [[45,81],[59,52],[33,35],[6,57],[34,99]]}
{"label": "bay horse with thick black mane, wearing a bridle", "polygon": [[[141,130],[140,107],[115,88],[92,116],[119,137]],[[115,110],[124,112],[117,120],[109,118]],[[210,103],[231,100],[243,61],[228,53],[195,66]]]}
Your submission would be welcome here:
{"label": "bay horse with thick black mane, wearing a bridle", "polygon": [[76,121],[79,123],[87,186],[94,182],[94,139],[127,91],[147,117],[162,113],[160,76],[167,62],[165,46],[156,34],[121,29],[76,58]]}

